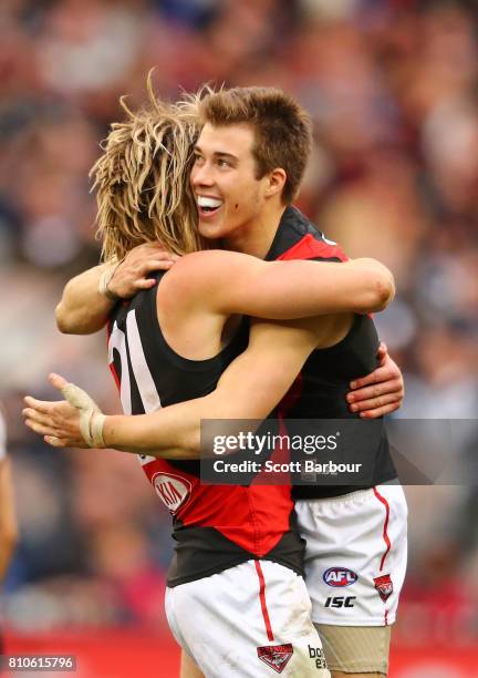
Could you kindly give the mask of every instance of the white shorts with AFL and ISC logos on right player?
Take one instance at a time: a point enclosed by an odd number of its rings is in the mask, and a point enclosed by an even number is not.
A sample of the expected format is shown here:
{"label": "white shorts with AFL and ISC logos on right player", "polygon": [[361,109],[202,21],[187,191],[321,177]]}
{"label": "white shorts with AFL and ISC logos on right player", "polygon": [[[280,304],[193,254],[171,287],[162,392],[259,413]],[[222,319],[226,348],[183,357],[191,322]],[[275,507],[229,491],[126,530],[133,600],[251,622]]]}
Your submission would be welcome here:
{"label": "white shorts with AFL and ISC logos on right player", "polygon": [[395,622],[407,561],[407,506],[401,485],[295,502],[306,541],[305,582],[315,624]]}

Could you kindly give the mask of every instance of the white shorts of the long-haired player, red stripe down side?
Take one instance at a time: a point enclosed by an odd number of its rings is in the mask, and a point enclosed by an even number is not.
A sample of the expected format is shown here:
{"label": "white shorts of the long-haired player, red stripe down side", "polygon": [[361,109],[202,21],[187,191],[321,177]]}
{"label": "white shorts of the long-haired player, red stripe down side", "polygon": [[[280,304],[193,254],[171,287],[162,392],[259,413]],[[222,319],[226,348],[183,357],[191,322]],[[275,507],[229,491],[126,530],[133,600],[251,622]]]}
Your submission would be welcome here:
{"label": "white shorts of the long-haired player, red stripe down side", "polygon": [[330,678],[304,581],[278,563],[167,588],[166,616],[206,678]]}

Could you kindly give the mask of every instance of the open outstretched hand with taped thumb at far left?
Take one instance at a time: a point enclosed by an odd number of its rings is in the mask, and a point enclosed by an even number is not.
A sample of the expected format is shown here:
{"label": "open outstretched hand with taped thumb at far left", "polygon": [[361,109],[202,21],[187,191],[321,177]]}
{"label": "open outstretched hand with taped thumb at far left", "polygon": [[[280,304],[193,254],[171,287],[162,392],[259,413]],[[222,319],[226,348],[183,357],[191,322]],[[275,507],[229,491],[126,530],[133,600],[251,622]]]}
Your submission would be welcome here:
{"label": "open outstretched hand with taped thumb at far left", "polygon": [[50,374],[49,381],[66,400],[50,402],[27,396],[25,425],[53,448],[104,448],[104,415],[94,400],[59,374]]}

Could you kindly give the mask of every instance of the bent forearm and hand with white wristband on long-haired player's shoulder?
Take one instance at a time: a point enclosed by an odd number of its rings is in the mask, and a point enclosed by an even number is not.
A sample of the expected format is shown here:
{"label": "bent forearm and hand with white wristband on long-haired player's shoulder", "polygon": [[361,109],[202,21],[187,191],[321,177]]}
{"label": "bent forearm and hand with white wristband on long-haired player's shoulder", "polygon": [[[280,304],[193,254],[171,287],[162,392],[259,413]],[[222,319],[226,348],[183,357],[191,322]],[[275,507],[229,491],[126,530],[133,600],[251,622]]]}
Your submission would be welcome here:
{"label": "bent forearm and hand with white wristband on long-haired player's shoulder", "polygon": [[[67,335],[91,335],[102,329],[115,304],[115,298],[128,299],[155,281],[148,278],[154,270],[167,270],[177,259],[157,243],[145,243],[132,249],[121,264],[107,263],[72,278],[56,306],[56,326]],[[110,271],[110,297],[100,291],[100,279]]]}

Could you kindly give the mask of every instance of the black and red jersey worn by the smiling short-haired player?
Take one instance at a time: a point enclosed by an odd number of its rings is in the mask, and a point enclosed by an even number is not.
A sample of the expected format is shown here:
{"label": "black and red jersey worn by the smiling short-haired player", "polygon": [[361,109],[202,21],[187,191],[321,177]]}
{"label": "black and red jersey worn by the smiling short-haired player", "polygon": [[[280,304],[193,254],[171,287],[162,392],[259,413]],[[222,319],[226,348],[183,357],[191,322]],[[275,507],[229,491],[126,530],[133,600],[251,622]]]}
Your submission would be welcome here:
{"label": "black and red jersey worn by the smiling short-haired player", "polygon": [[[266,256],[267,260],[313,259],[316,261],[345,261],[347,257],[336,243],[328,240],[297,208],[288,207],[276,237]],[[314,350],[299,377],[279,404],[279,414],[294,419],[360,419],[349,411],[345,396],[352,379],[364,377],[377,364],[378,337],[368,316],[356,316],[342,341],[326,349]],[[374,449],[370,450],[373,465],[372,485],[396,477],[384,423]],[[289,425],[289,433],[291,425]],[[372,486],[371,485],[371,486]],[[294,499],[339,496],[360,490],[356,485],[295,485]]]}

